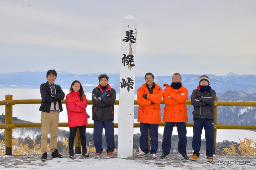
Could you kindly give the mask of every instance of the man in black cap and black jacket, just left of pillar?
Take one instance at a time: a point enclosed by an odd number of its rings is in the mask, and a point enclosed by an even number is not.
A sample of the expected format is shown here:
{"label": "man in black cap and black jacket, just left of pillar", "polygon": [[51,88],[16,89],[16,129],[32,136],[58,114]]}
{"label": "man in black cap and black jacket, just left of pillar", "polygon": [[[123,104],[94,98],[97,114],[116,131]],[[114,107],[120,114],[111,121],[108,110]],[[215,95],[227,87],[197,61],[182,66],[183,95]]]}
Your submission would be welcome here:
{"label": "man in black cap and black jacket, just left of pillar", "polygon": [[102,148],[102,131],[105,129],[107,154],[114,158],[114,103],[116,102],[116,90],[110,88],[108,75],[98,76],[100,84],[92,90],[92,119],[94,120],[93,140],[96,148],[95,158],[100,158]]}

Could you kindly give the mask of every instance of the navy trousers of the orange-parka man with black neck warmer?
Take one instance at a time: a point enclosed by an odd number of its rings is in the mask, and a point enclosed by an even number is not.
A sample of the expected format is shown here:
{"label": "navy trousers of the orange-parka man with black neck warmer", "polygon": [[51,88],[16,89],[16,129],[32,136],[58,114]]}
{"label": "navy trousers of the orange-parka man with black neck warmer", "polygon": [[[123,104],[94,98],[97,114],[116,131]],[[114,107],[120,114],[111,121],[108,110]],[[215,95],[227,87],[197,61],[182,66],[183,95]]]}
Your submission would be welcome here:
{"label": "navy trousers of the orange-parka man with black neck warmer", "polygon": [[178,152],[180,154],[187,154],[187,129],[185,122],[165,122],[164,126],[164,137],[162,142],[162,150],[163,154],[168,155],[170,154],[171,150],[171,139],[172,139],[172,130],[174,125],[176,124],[177,131],[178,131]]}

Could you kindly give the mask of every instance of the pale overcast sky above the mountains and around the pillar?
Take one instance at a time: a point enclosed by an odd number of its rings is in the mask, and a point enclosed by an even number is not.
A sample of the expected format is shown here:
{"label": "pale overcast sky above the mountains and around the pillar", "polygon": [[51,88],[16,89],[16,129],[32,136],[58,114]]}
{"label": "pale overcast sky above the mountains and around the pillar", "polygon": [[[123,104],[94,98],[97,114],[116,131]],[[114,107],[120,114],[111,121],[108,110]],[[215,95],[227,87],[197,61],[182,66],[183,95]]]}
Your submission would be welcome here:
{"label": "pale overcast sky above the mountains and around the pillar", "polygon": [[0,73],[119,73],[122,18],[136,75],[256,74],[255,0],[0,0]]}

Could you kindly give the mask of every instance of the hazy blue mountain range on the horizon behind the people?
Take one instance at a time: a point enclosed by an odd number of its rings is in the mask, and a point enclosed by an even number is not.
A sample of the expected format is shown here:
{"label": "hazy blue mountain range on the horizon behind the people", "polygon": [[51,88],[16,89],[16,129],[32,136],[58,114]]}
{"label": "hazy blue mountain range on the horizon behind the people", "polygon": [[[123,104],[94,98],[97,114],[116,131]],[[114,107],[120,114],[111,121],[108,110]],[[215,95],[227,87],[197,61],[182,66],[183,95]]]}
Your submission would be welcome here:
{"label": "hazy blue mountain range on the horizon behind the people", "polygon": [[[74,80],[79,80],[84,87],[85,92],[92,92],[92,89],[99,83],[98,75],[92,74],[71,74],[64,71],[57,72],[56,84],[62,88],[69,89]],[[256,75],[229,73],[224,76],[207,74],[210,78],[210,86],[217,93],[224,93],[228,90],[244,91],[248,94],[256,93]],[[108,74],[111,87],[119,93],[120,74]],[[199,74],[182,74],[182,84],[188,88],[189,94],[198,86]],[[171,84],[172,75],[155,76],[154,82],[160,86]],[[10,74],[0,73],[0,88],[39,88],[40,84],[46,82],[46,72],[39,70],[30,70],[25,72],[15,72]],[[137,89],[145,83],[144,76],[135,77],[135,93]]]}

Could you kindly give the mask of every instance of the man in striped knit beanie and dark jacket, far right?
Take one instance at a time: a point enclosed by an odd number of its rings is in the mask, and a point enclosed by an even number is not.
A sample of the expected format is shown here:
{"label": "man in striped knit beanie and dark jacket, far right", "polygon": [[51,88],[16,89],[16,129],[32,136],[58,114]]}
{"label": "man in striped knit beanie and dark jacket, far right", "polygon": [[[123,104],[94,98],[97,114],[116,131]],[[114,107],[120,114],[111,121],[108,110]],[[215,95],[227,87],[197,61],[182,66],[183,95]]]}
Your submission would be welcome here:
{"label": "man in striped knit beanie and dark jacket, far right", "polygon": [[199,86],[193,90],[191,94],[191,103],[194,106],[193,119],[193,140],[192,148],[194,150],[190,160],[199,159],[199,151],[201,147],[202,129],[205,130],[206,138],[206,156],[208,162],[214,161],[214,102],[216,98],[215,90],[210,86],[208,76],[201,76],[199,78]]}

